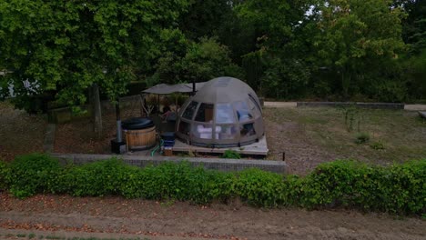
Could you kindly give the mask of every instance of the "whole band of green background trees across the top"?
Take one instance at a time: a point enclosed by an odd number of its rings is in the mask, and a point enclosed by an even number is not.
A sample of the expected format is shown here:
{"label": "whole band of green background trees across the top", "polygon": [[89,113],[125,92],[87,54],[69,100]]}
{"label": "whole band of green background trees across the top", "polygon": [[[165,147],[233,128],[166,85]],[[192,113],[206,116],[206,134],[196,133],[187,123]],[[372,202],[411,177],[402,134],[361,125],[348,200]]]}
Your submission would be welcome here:
{"label": "whole band of green background trees across the top", "polygon": [[425,5],[6,0],[0,69],[8,74],[0,87],[5,96],[14,86],[18,106],[46,93],[80,105],[94,84],[115,100],[134,80],[149,86],[233,75],[274,98],[418,101],[426,95]]}

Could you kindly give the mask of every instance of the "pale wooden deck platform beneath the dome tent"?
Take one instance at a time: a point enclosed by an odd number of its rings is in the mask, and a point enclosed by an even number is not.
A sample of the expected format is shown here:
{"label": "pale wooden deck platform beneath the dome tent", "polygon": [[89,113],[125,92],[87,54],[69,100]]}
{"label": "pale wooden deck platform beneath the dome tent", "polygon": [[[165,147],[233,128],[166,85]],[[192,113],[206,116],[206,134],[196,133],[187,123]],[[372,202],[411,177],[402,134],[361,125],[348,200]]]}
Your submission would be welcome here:
{"label": "pale wooden deck platform beneath the dome tent", "polygon": [[242,155],[268,155],[269,149],[266,141],[266,136],[263,135],[259,139],[259,142],[253,143],[251,145],[242,145],[240,147],[220,147],[220,148],[211,148],[211,147],[202,147],[196,145],[187,145],[181,142],[179,139],[175,140],[175,145],[173,146],[173,152],[197,152],[197,153],[214,153],[214,154],[223,154],[226,150],[234,150]]}

